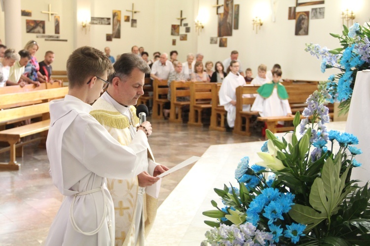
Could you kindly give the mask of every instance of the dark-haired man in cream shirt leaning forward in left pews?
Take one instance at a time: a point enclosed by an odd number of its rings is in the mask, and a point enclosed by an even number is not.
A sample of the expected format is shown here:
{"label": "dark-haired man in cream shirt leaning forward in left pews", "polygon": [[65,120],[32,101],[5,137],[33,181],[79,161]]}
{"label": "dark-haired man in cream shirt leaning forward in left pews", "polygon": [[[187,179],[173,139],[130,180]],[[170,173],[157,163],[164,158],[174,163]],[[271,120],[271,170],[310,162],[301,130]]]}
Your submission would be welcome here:
{"label": "dark-haired man in cream shirt leaning forward in left pews", "polygon": [[18,52],[18,54],[20,55],[21,59],[18,62],[15,62],[14,66],[10,67],[9,78],[8,81],[6,81],[6,85],[20,85],[21,87],[24,87],[26,84],[29,83],[28,81],[24,81],[23,79],[21,80],[21,76],[24,73],[25,66],[31,60],[31,54],[27,50],[21,50]]}

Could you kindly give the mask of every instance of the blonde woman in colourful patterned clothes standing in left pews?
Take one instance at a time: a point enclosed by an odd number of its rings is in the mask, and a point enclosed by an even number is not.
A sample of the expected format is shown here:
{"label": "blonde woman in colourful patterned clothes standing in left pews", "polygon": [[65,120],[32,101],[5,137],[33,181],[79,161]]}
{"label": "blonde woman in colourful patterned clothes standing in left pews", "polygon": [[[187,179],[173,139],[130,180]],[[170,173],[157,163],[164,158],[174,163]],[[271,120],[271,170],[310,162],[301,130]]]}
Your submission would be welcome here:
{"label": "blonde woman in colourful patterned clothes standing in left pews", "polygon": [[[31,60],[26,65],[24,74],[22,75],[21,79],[31,82],[36,86],[39,86],[40,82],[46,83],[47,77],[39,72],[40,66],[38,65],[37,59],[35,57],[35,54],[38,50],[37,42],[34,40],[28,41],[24,49],[30,52]],[[31,81],[27,78],[31,79]]]}

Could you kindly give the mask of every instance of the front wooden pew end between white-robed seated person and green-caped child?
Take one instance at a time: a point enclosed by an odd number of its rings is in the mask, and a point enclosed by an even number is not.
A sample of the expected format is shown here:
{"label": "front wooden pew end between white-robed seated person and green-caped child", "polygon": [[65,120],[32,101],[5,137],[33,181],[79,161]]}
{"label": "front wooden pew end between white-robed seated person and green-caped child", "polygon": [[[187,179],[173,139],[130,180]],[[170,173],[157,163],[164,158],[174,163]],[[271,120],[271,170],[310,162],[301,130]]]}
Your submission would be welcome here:
{"label": "front wooden pew end between white-robed seated person and green-caped child", "polygon": [[[255,97],[253,94],[257,93],[259,86],[245,85],[236,88],[236,117],[234,123],[233,133],[250,136],[249,130],[252,116],[259,116],[258,112],[243,111],[243,105],[249,104],[252,107]],[[243,97],[248,94],[249,97]]]}

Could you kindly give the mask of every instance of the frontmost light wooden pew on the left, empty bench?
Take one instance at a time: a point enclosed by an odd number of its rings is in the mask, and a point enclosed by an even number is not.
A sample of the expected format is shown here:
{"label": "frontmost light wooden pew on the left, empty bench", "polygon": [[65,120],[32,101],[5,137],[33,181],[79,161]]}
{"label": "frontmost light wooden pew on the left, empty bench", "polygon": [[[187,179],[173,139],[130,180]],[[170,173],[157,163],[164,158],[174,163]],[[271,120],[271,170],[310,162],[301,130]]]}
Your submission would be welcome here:
{"label": "frontmost light wooden pew on the left, empty bench", "polygon": [[[16,161],[16,154],[23,154],[23,145],[34,142],[46,137],[46,132],[49,129],[49,101],[53,98],[63,97],[68,93],[68,88],[56,88],[49,90],[38,90],[33,92],[8,93],[0,95],[1,106],[5,108],[0,110],[0,124],[19,122],[25,119],[32,119],[41,115],[42,121],[22,125],[19,127],[1,130],[0,141],[8,142],[9,147],[3,148],[0,152],[10,151],[10,160],[8,163],[0,163],[0,169],[19,170],[19,163]],[[37,103],[38,101],[42,103]],[[31,104],[22,107],[8,108],[8,105]],[[33,139],[28,142],[19,143],[21,138],[43,133],[40,138]],[[18,143],[18,144],[17,144]]]}

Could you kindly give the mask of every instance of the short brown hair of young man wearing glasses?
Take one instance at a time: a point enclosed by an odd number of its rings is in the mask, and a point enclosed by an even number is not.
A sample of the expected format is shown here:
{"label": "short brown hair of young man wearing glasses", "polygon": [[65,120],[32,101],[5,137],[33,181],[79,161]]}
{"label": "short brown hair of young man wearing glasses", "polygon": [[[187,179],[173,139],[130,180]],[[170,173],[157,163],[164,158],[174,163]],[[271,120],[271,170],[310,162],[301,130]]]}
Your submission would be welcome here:
{"label": "short brown hair of young man wearing glasses", "polygon": [[110,75],[114,69],[111,60],[103,52],[89,46],[80,47],[67,60],[68,86],[70,89],[81,87],[89,77],[103,76],[106,71]]}

